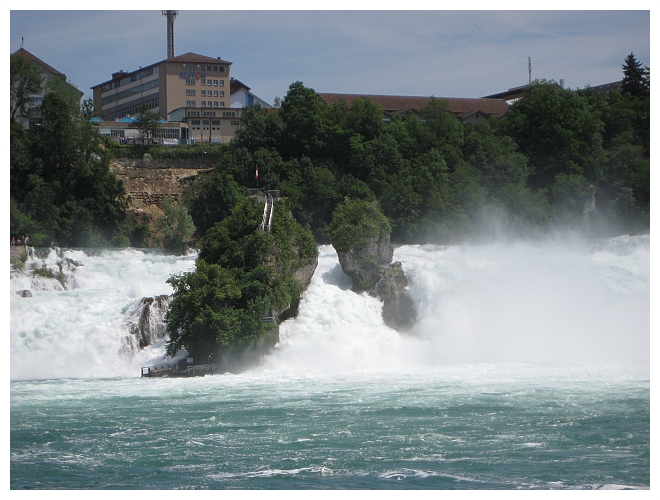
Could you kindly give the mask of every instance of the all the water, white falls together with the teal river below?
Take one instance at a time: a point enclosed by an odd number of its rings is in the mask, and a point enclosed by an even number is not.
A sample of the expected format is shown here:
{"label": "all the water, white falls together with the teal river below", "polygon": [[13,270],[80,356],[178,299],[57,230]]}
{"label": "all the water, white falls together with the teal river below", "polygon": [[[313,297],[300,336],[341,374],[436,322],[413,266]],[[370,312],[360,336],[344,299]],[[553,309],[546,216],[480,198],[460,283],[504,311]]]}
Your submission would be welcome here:
{"label": "all the water, white falls together with the teal river below", "polygon": [[83,265],[11,294],[10,487],[650,487],[648,236],[399,247],[406,334],[319,252],[261,366],[187,379],[140,378],[164,345],[127,355],[122,325],[195,255],[35,258]]}

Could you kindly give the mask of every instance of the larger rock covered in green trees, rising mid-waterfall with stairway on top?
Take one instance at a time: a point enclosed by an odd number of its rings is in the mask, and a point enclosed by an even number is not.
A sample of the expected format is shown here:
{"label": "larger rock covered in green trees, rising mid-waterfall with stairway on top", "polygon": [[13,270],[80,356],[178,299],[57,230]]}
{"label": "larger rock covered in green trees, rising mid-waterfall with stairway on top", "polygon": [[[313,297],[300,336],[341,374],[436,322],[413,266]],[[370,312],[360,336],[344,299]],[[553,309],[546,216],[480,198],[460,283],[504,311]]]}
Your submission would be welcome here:
{"label": "larger rock covered in green trees, rising mid-waterfall with stairway on top", "polygon": [[168,281],[169,356],[185,349],[196,360],[239,369],[277,342],[279,321],[297,314],[316,268],[316,244],[286,200],[275,203],[270,232],[260,228],[263,210],[253,198],[239,201],[200,240],[195,270]]}

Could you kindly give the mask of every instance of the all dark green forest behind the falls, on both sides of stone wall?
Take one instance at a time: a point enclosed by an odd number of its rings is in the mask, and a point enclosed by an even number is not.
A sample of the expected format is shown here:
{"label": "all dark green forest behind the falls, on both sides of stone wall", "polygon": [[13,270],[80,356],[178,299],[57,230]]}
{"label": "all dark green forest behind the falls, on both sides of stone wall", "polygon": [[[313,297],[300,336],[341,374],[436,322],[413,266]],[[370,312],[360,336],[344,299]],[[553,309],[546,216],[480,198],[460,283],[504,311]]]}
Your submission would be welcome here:
{"label": "all dark green forest behind the falls, on both sides of stone wall", "polygon": [[[88,120],[67,86],[49,82],[39,124],[15,121],[41,85],[11,60],[10,214],[13,236],[33,245],[126,246],[145,228],[126,218],[121,184],[109,171],[120,149]],[[193,146],[166,154],[191,157]],[[154,150],[154,152],[157,152]],[[569,227],[590,236],[648,231],[650,74],[625,58],[621,91],[563,89],[535,81],[501,118],[462,124],[440,99],[419,113],[383,121],[370,100],[325,105],[293,83],[278,109],[245,109],[230,144],[217,146],[214,172],[171,204],[165,246],[202,238],[245,197],[246,187],[279,189],[298,222],[327,242],[333,210],[346,198],[376,201],[394,243],[451,243]],[[192,218],[190,223],[189,218]]]}

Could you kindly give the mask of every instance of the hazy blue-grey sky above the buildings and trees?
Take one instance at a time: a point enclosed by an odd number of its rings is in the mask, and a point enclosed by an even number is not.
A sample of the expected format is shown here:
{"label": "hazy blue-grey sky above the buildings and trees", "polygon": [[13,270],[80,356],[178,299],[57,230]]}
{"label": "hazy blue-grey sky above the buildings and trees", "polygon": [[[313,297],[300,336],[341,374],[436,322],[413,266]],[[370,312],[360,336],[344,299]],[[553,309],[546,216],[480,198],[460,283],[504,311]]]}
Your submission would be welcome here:
{"label": "hazy blue-grey sky above the buildings and trees", "polygon": [[[12,10],[11,53],[21,37],[26,50],[65,73],[86,97],[115,71],[167,57],[160,10]],[[231,76],[269,103],[298,80],[317,92],[483,97],[527,83],[528,56],[533,79],[564,79],[570,88],[620,79],[631,52],[650,67],[650,13],[179,10],[174,50],[232,62]]]}

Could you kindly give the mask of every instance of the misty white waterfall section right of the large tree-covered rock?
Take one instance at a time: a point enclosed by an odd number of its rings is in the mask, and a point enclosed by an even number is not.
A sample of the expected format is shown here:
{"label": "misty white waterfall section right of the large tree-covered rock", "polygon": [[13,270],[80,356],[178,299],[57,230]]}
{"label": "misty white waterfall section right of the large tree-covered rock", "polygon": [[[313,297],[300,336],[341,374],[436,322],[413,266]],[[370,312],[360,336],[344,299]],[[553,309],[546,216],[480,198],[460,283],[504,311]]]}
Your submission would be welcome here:
{"label": "misty white waterfall section right of the large tree-covered rock", "polygon": [[[451,364],[649,364],[648,236],[402,246],[420,321],[398,334],[348,292],[332,247],[267,366],[331,372]],[[348,293],[347,293],[348,292]]]}

